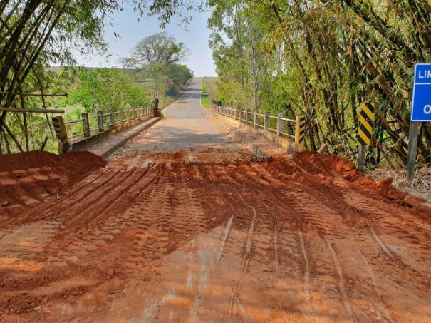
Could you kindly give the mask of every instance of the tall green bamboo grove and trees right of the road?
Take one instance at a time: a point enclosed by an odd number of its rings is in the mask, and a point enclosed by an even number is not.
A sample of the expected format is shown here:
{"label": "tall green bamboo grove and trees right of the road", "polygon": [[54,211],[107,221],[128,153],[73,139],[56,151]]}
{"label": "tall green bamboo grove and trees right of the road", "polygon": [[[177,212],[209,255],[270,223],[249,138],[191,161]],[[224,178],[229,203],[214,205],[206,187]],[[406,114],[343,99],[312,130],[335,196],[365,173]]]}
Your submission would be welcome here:
{"label": "tall green bamboo grove and trees right of the road", "polygon": [[[209,19],[219,98],[303,114],[310,150],[356,155],[360,103],[377,107],[372,165],[407,160],[415,63],[431,62],[427,0],[217,0]],[[430,93],[431,95],[431,93]],[[431,163],[422,123],[420,164]]]}

